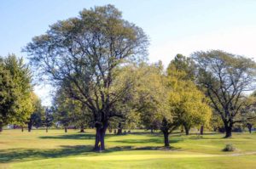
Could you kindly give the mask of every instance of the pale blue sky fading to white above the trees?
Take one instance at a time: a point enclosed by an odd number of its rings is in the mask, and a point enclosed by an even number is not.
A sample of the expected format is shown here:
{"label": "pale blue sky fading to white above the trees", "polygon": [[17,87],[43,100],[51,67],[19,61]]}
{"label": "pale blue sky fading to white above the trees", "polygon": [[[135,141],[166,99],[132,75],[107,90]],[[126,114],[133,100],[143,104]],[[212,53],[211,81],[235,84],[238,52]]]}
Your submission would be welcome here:
{"label": "pale blue sky fading to white above the trees", "polygon": [[[113,4],[150,39],[148,59],[167,66],[176,54],[221,49],[256,59],[256,0],[0,0],[0,55],[16,54],[32,37],[83,8]],[[34,87],[50,105],[51,87]]]}

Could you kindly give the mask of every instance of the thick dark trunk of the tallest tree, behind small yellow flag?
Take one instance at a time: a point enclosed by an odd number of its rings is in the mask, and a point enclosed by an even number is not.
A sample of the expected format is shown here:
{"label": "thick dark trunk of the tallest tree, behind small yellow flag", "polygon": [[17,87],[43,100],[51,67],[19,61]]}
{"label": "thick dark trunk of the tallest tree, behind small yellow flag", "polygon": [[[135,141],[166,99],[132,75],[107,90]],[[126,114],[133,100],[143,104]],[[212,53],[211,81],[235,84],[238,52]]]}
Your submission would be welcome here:
{"label": "thick dark trunk of the tallest tree, behind small yellow flag", "polygon": [[96,139],[94,150],[105,150],[105,134],[108,128],[108,121],[105,121],[102,125],[96,125]]}

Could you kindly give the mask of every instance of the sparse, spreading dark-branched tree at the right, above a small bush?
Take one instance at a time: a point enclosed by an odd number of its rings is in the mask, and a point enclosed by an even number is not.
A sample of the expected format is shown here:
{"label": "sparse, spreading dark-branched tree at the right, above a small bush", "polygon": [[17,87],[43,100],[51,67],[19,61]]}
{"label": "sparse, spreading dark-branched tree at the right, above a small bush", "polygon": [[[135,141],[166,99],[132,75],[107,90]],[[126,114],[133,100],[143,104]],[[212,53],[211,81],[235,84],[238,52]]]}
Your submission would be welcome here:
{"label": "sparse, spreading dark-branched tree at the right, above a small bush", "polygon": [[197,82],[220,115],[225,138],[230,138],[234,124],[241,122],[237,117],[246,101],[245,92],[254,88],[255,62],[220,50],[195,52],[192,57],[198,68]]}

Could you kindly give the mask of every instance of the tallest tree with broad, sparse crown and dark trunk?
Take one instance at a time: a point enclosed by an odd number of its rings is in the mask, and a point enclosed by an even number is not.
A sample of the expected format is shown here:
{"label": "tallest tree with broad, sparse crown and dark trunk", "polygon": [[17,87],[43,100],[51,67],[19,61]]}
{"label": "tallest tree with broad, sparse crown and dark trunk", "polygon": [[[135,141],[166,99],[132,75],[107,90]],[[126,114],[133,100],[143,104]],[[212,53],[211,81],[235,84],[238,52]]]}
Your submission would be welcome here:
{"label": "tallest tree with broad, sparse crown and dark trunk", "polygon": [[55,85],[63,85],[93,115],[95,149],[105,149],[104,137],[113,104],[125,95],[111,90],[115,69],[125,61],[143,59],[148,38],[143,30],[122,19],[113,5],[84,9],[79,17],[61,20],[34,37],[25,51],[32,65]]}

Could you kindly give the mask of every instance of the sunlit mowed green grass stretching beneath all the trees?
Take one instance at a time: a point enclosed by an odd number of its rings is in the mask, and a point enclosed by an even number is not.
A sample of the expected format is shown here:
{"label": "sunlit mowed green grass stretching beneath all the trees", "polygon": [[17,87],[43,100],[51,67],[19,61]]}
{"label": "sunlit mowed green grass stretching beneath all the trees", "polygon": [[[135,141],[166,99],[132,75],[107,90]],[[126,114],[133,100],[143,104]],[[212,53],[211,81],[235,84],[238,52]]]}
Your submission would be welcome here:
{"label": "sunlit mowed green grass stretching beneath all the trees", "polygon": [[[256,168],[256,133],[171,135],[163,149],[159,133],[108,134],[107,150],[92,152],[94,130],[4,130],[0,134],[0,168]],[[234,152],[223,152],[233,144]]]}

